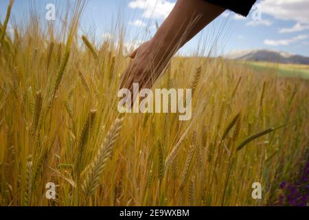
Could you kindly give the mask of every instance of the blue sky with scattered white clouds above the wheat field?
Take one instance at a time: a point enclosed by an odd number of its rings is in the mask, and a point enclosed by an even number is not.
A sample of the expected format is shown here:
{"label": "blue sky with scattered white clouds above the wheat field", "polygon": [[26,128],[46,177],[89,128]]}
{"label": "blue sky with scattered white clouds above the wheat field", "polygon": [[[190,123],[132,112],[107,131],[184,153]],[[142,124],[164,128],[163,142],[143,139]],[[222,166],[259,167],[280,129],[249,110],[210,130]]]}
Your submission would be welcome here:
{"label": "blue sky with scattered white clouds above the wheat field", "polygon": [[[68,0],[72,3],[76,0]],[[10,22],[25,21],[30,5],[45,17],[46,5],[55,5],[56,19],[60,22],[63,11],[60,0],[15,0]],[[126,45],[137,47],[155,34],[174,7],[176,0],[88,0],[82,14],[80,34],[95,36],[100,44],[114,38],[116,24],[126,30]],[[3,22],[9,0],[0,1],[0,19]],[[258,0],[247,18],[225,11],[198,34],[181,53],[194,54],[198,48],[216,46],[216,54],[234,50],[268,49],[309,56],[309,0]],[[42,22],[45,19],[42,19]],[[10,31],[10,25],[8,28]],[[111,34],[113,33],[113,34]],[[218,36],[218,38],[216,37]],[[218,39],[218,41],[215,41]]]}

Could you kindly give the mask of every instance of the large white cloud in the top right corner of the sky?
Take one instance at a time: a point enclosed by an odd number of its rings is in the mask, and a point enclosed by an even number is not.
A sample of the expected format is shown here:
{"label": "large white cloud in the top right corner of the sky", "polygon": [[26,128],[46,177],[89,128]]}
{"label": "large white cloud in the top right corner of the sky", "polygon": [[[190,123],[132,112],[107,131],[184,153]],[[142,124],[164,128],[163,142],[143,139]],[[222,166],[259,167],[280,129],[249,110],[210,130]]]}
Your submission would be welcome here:
{"label": "large white cloud in the top right corner of the sky", "polygon": [[309,23],[308,0],[263,0],[258,4],[262,14],[271,15],[275,19]]}

